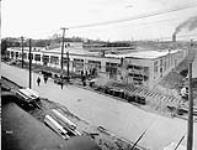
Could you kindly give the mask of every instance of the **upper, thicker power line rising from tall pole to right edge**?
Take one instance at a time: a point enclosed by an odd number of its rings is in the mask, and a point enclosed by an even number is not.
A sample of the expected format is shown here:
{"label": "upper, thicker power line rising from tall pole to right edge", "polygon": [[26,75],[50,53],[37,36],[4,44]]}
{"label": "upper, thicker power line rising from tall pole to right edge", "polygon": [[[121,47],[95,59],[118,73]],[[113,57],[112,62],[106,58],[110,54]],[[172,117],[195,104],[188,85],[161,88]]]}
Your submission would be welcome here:
{"label": "upper, thicker power line rising from tall pole to right edge", "polygon": [[123,18],[123,19],[117,19],[117,20],[111,20],[111,21],[105,21],[105,22],[97,22],[97,23],[92,23],[92,24],[84,24],[84,25],[79,25],[79,26],[70,26],[69,28],[71,28],[71,29],[87,28],[87,27],[103,26],[103,25],[109,25],[109,24],[115,24],[115,23],[134,21],[134,20],[139,20],[139,19],[143,19],[143,18],[163,15],[163,14],[167,14],[167,13],[171,13],[171,12],[181,11],[181,10],[193,8],[196,6],[197,6],[197,3],[191,3],[190,5],[187,5],[187,6],[172,8],[172,9],[168,9],[168,10],[155,11],[155,12],[151,12],[149,14],[142,14],[142,15],[138,15],[138,16]]}

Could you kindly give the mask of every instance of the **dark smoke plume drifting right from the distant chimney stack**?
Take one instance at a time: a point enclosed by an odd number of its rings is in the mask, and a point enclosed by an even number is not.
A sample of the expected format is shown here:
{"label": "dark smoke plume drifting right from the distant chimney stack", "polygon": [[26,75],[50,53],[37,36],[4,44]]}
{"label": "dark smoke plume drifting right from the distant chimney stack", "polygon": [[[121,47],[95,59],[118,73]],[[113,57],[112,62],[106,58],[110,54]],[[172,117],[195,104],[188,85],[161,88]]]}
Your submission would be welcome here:
{"label": "dark smoke plume drifting right from the distant chimney stack", "polygon": [[197,16],[191,17],[188,20],[181,23],[178,27],[176,27],[174,34],[181,32],[182,29],[187,29],[188,31],[192,31],[197,28]]}

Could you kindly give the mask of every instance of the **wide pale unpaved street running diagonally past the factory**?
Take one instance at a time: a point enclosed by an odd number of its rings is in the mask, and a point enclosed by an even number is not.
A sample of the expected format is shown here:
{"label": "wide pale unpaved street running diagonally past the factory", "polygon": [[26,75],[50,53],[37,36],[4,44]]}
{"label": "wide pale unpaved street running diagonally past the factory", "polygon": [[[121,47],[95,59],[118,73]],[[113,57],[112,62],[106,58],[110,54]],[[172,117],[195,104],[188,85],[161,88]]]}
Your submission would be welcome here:
{"label": "wide pale unpaved street running diagonally past the factory", "polygon": [[[1,64],[2,75],[14,82],[28,86],[28,71],[13,66]],[[97,126],[103,126],[113,133],[136,141],[142,132],[148,128],[139,145],[153,150],[163,149],[171,142],[178,142],[186,133],[187,122],[181,119],[171,119],[153,113],[145,112],[131,104],[113,98],[84,90],[75,86],[59,85],[49,80],[44,84],[36,85],[37,74],[33,74],[33,89],[42,97],[65,105],[71,112],[80,118]],[[194,146],[197,149],[197,124],[194,124]],[[186,139],[183,141],[186,145]]]}

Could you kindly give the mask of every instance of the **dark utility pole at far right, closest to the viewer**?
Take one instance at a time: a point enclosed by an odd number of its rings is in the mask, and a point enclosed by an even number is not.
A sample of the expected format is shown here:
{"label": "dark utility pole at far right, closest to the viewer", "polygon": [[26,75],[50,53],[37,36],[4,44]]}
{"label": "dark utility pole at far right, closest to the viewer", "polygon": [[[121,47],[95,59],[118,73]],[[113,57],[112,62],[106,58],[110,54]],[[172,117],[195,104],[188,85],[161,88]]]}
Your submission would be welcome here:
{"label": "dark utility pole at far right, closest to the viewer", "polygon": [[192,150],[193,145],[193,93],[192,93],[192,62],[195,57],[195,52],[192,49],[191,41],[188,52],[188,82],[189,82],[189,115],[188,115],[188,130],[187,130],[187,150]]}

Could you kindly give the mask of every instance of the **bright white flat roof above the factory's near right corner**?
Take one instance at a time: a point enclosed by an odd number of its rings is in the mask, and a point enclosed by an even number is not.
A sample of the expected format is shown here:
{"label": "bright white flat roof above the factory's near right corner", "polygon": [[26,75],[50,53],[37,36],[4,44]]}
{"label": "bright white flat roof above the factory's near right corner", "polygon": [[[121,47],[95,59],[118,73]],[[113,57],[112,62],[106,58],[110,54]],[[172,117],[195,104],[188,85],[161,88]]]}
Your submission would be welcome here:
{"label": "bright white flat roof above the factory's near right corner", "polygon": [[106,57],[114,57],[114,58],[142,58],[142,59],[155,59],[162,56],[165,56],[169,53],[176,53],[179,50],[164,50],[164,51],[139,51],[139,52],[130,52],[126,54],[106,54]]}

